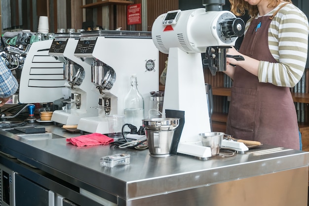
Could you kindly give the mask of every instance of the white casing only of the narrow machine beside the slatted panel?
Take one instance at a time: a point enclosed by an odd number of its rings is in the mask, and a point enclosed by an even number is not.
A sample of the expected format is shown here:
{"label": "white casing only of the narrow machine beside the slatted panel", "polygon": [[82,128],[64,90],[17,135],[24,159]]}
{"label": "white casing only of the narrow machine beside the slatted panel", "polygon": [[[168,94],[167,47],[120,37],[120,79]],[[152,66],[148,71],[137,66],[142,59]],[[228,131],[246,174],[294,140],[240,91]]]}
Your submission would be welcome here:
{"label": "white casing only of the narrow machine beside the slatted panel", "polygon": [[[98,94],[92,87],[91,83],[91,67],[80,58],[74,55],[78,39],[75,38],[59,38],[55,39],[49,50],[49,55],[57,58],[61,62],[65,63],[66,59],[75,62],[78,67],[80,66],[84,70],[84,79],[79,85],[74,85],[66,81],[65,86],[71,91],[71,94],[80,95],[80,107],[77,108],[76,99],[71,99],[71,109],[68,110],[55,110],[51,117],[51,120],[59,124],[76,125],[79,119],[82,117],[96,117],[98,116],[97,106]],[[64,50],[57,45],[65,46]]]}

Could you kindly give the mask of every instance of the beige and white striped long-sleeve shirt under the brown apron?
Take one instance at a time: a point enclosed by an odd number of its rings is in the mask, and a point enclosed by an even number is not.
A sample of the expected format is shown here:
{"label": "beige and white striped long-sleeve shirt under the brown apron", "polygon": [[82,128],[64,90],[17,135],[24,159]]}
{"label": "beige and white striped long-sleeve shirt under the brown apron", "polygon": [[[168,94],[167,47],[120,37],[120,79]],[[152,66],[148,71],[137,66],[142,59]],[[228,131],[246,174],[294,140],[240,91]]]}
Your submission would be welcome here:
{"label": "beige and white striped long-sleeve shirt under the brown apron", "polygon": [[[281,4],[266,15],[271,16]],[[246,30],[250,23],[251,19]],[[300,81],[308,55],[308,31],[308,18],[295,5],[290,3],[279,10],[268,30],[270,53],[277,63],[260,61],[259,82],[293,87]]]}

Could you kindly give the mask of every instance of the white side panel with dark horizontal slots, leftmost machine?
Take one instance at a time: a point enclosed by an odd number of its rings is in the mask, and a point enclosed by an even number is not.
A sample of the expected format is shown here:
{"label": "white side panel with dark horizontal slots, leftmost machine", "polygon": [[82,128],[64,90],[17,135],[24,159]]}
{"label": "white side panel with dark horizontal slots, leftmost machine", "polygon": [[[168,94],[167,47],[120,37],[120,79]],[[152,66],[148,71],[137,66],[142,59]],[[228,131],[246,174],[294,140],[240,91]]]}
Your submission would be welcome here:
{"label": "white side panel with dark horizontal slots, leftmost machine", "polygon": [[51,43],[45,40],[31,44],[20,77],[20,103],[53,102],[62,97],[63,63],[48,55]]}

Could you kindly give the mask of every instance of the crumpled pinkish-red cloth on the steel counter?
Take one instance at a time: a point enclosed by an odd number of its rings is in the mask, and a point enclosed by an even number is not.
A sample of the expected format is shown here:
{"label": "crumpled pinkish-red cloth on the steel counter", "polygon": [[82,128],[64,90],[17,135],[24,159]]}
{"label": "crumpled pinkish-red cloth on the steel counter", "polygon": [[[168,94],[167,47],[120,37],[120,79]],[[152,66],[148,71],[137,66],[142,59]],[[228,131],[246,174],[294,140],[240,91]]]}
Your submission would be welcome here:
{"label": "crumpled pinkish-red cloth on the steel counter", "polygon": [[111,142],[114,142],[114,139],[104,134],[92,133],[92,134],[81,135],[78,137],[68,138],[67,142],[71,142],[73,145],[80,147],[80,146],[90,146],[100,144],[108,145]]}

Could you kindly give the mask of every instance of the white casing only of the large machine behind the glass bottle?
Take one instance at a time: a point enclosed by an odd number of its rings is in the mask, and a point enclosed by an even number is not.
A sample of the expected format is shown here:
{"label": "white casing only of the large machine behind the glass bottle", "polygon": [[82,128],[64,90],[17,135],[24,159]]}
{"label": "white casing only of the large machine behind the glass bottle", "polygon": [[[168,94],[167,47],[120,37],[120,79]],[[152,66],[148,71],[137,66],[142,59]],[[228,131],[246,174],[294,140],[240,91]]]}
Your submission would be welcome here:
{"label": "white casing only of the large machine behind the glass bottle", "polygon": [[[101,97],[111,98],[110,115],[124,115],[124,99],[130,89],[130,77],[136,74],[138,90],[144,98],[145,118],[148,117],[150,92],[158,91],[158,49],[150,38],[118,38],[104,36],[81,38],[75,55],[89,65],[99,60],[112,67],[116,81],[111,89],[94,90]],[[83,42],[88,42],[89,45]],[[142,120],[141,120],[142,125]],[[135,125],[137,127],[141,125]],[[86,132],[109,133],[104,109],[98,117],[81,118],[77,129]],[[121,131],[116,131],[121,132]]]}

